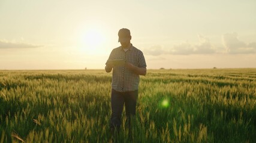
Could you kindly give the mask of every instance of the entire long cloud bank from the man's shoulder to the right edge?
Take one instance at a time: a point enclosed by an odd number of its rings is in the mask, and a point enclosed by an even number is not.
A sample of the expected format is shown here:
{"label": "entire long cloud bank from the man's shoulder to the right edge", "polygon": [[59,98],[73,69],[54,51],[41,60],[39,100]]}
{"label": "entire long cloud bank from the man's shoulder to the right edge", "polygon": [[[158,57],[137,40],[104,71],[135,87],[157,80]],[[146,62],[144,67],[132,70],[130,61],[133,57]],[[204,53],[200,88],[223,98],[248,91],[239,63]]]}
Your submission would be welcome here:
{"label": "entire long cloud bank from the man's shoulder to the right edge", "polygon": [[210,40],[202,35],[198,35],[198,43],[192,44],[182,42],[171,48],[162,48],[162,46],[152,46],[144,49],[147,55],[191,55],[191,54],[252,54],[256,53],[256,42],[243,42],[237,36],[237,33],[226,33],[222,35],[222,46],[216,47],[210,43]]}

